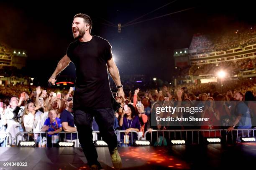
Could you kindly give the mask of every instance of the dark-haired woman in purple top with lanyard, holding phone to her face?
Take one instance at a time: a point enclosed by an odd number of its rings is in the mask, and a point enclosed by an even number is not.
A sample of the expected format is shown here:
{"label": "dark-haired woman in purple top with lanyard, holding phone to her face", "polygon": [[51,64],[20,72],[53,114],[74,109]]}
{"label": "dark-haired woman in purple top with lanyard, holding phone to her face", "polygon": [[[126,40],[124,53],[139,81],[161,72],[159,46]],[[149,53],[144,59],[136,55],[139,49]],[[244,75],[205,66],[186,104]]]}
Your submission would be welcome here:
{"label": "dark-haired woman in purple top with lanyard, holding phone to her face", "polygon": [[[136,115],[136,110],[132,104],[124,105],[123,113],[119,120],[119,125],[121,130],[125,130],[125,134],[127,134],[126,136],[121,133],[121,146],[131,146],[131,130],[139,132],[141,129],[139,118]],[[133,140],[138,140],[136,133],[133,133]]]}

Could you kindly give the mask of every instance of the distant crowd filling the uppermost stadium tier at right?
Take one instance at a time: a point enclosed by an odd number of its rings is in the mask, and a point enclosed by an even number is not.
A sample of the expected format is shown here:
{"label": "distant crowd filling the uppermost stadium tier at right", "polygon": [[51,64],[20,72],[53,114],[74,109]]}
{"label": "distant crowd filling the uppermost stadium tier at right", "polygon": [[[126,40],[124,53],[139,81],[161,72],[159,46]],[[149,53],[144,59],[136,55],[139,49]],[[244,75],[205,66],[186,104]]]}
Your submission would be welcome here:
{"label": "distant crowd filling the uppermost stadium tier at right", "polygon": [[230,48],[237,48],[256,42],[256,27],[240,27],[237,30],[226,30],[223,33],[214,35],[196,34],[192,38],[189,50],[196,50],[197,53],[212,51],[225,51]]}

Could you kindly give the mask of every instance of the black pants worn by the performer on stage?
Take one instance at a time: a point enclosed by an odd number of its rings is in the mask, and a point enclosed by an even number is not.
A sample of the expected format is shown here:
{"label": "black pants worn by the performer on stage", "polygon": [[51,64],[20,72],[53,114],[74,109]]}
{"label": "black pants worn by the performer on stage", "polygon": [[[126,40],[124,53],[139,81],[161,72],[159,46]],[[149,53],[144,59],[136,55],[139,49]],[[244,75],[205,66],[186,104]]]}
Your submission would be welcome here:
{"label": "black pants worn by the performer on stage", "polygon": [[87,164],[100,165],[98,155],[92,141],[92,119],[95,117],[102,139],[108,144],[110,153],[117,147],[117,138],[114,131],[114,111],[112,108],[87,109],[74,111],[74,124],[77,126],[78,139],[87,159]]}

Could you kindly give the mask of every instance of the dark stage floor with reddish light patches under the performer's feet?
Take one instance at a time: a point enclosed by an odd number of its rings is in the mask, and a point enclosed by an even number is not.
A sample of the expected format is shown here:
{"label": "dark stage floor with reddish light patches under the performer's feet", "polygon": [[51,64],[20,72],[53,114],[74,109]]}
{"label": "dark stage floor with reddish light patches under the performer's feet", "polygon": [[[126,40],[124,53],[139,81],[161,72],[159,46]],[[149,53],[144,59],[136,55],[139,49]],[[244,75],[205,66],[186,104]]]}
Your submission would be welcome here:
{"label": "dark stage floor with reddish light patches under the performer's feet", "polygon": [[[254,167],[256,143],[238,145],[176,145],[119,147],[123,170],[238,169]],[[97,147],[98,160],[113,170],[107,147]],[[0,170],[87,170],[82,148],[0,147]],[[26,167],[3,167],[3,162],[27,162]]]}

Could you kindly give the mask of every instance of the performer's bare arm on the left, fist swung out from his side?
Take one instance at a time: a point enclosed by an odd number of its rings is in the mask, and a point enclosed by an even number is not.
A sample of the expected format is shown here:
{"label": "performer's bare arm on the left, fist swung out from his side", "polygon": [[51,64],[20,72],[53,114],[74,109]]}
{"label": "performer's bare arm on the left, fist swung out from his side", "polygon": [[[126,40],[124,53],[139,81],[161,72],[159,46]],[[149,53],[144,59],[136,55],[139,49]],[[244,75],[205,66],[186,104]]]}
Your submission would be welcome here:
{"label": "performer's bare arm on the left, fist swung out from his side", "polygon": [[62,57],[48,82],[54,85],[56,81],[56,76],[69,65],[70,61],[71,60],[69,59],[67,54],[64,57]]}

